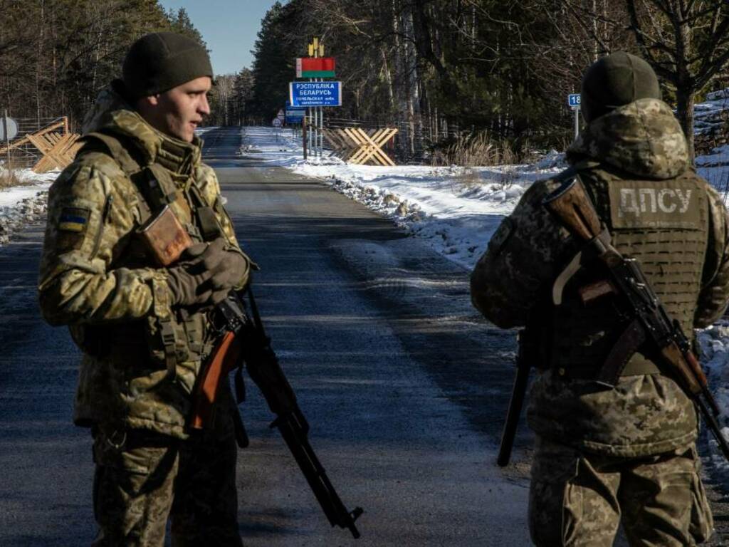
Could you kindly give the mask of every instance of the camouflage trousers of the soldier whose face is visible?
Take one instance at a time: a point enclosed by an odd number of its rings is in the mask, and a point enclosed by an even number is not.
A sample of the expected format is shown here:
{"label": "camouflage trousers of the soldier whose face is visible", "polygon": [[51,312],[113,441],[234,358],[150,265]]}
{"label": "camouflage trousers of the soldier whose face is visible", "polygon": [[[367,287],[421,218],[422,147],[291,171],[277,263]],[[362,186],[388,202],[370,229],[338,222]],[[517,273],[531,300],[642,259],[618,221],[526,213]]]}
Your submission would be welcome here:
{"label": "camouflage trousers of the soldier whose face is visible", "polygon": [[95,432],[93,547],[241,547],[235,437],[180,441],[155,433]]}

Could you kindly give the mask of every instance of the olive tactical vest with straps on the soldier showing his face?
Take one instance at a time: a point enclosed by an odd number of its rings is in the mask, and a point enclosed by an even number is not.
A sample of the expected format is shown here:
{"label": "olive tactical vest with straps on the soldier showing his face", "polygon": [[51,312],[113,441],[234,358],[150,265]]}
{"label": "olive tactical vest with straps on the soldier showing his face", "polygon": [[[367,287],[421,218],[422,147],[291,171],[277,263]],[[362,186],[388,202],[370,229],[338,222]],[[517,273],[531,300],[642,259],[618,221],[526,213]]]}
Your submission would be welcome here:
{"label": "olive tactical vest with straps on the soldier showing his face", "polygon": [[[133,182],[138,203],[140,225],[169,206],[184,226],[193,242],[211,241],[222,233],[213,209],[208,206],[192,176],[191,162],[181,163],[184,149],[163,141],[154,163],[141,165],[117,136],[90,133],[84,137],[87,150],[104,150]],[[79,153],[83,153],[81,150]],[[189,155],[188,155],[189,158]],[[114,261],[114,268],[148,268],[154,265],[147,248],[139,238],[131,238],[128,248]],[[174,378],[176,366],[197,362],[208,354],[213,341],[208,336],[208,321],[204,314],[188,314],[184,309],[173,310],[162,319],[149,315],[146,319],[124,325],[71,327],[71,336],[89,354],[123,351],[125,354],[146,354],[152,365],[164,364],[168,376]]]}

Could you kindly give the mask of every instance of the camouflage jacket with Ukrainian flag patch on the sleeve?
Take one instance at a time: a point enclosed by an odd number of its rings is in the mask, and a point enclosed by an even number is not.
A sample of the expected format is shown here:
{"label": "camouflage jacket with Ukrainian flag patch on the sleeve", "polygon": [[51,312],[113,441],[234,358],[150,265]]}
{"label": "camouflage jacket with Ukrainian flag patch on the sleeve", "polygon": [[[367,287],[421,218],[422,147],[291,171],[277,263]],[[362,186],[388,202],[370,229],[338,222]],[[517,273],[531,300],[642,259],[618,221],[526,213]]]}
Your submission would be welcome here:
{"label": "camouflage jacket with Ukrainian flag patch on the sleeve", "polygon": [[[213,209],[229,249],[241,252],[233,224],[214,171],[200,160],[199,139],[187,143],[160,133],[113,88],[98,97],[84,131],[99,132],[117,147],[112,152],[87,137],[53,183],[39,276],[44,318],[69,325],[84,352],[74,422],[186,438],[190,394],[212,335],[204,314],[171,307],[165,268],[135,234],[149,204],[119,157],[128,153],[160,186],[174,189],[171,209],[193,241],[202,240],[193,187]],[[174,360],[166,358],[170,354]]]}

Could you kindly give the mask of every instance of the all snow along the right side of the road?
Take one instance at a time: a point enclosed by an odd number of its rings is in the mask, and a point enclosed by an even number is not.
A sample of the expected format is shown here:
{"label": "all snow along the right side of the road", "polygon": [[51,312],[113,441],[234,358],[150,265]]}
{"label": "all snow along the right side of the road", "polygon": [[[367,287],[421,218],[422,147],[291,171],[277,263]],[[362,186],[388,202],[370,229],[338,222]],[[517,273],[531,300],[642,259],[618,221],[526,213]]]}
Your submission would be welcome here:
{"label": "all snow along the right side of the road", "polygon": [[[720,112],[727,108],[729,89],[712,93],[706,103],[697,104],[697,132],[721,123]],[[291,133],[284,139],[285,146],[279,146],[280,136],[274,141],[272,135],[271,128],[250,128],[246,130],[246,145],[256,150],[261,160],[327,181],[333,189],[391,218],[467,269],[475,265],[491,234],[526,188],[565,167],[564,155],[554,151],[532,165],[479,168],[354,166],[327,155],[303,161],[297,135]],[[698,173],[722,193],[729,190],[727,163],[729,146],[696,158]],[[722,432],[729,439],[729,321],[722,319],[699,331],[698,339],[704,353],[702,362],[722,409]],[[714,443],[713,439],[709,442]],[[718,450],[712,459],[721,469],[729,470]]]}

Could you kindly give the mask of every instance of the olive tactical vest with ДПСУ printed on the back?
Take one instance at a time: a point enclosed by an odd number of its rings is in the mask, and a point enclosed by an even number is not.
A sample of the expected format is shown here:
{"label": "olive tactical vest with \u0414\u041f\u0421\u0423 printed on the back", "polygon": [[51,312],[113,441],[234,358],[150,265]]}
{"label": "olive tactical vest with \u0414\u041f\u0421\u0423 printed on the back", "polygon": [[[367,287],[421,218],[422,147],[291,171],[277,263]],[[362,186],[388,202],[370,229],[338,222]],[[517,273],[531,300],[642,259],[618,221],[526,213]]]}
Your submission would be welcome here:
{"label": "olive tactical vest with \u0414\u041f\u0421\u0423 printed on the back", "polygon": [[[693,171],[668,180],[625,179],[608,168],[580,171],[580,179],[625,257],[638,260],[671,319],[693,338],[693,315],[709,237],[709,203]],[[542,325],[549,365],[566,378],[592,379],[626,325],[612,297],[582,304],[577,288],[605,279],[599,266],[582,268],[569,281],[552,320]],[[652,349],[631,357],[623,376],[659,373]]]}

